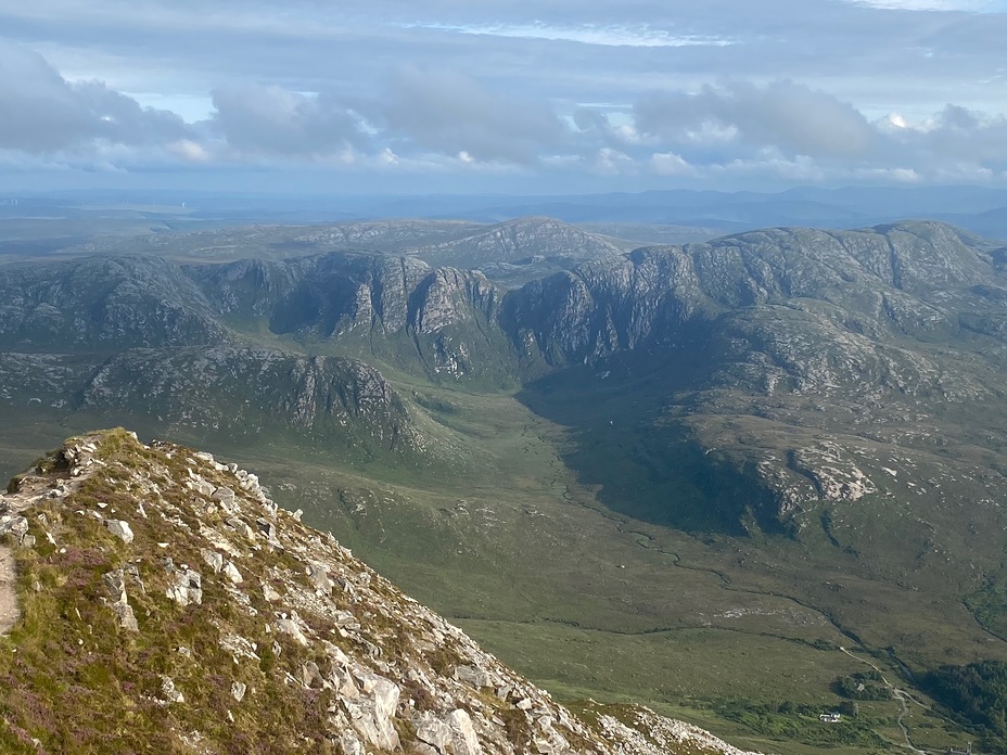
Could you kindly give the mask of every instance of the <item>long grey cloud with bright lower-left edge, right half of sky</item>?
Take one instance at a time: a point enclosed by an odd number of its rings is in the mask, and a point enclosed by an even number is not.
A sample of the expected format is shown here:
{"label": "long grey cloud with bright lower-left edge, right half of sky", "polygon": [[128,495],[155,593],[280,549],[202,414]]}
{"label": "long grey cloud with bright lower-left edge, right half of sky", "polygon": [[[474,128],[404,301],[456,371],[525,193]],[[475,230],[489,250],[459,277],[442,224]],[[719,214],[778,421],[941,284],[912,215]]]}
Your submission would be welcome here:
{"label": "long grey cloud with bright lower-left edge, right half of sky", "polygon": [[757,86],[730,81],[697,93],[652,92],[635,107],[643,135],[670,142],[697,141],[704,132],[754,148],[774,146],[811,157],[865,156],[875,130],[853,105],[793,81]]}

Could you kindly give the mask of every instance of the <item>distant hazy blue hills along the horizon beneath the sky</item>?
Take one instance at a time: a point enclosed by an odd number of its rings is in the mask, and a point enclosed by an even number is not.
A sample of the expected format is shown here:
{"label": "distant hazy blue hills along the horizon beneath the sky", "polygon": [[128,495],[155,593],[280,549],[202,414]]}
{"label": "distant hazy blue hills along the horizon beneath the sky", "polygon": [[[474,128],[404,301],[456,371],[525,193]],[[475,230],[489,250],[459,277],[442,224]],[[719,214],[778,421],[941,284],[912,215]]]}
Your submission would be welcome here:
{"label": "distant hazy blue hills along the horizon beneath the sky", "polygon": [[[284,192],[288,191],[284,187]],[[768,227],[812,226],[831,230],[930,218],[982,235],[1007,238],[1007,193],[958,187],[799,187],[782,192],[667,190],[638,193],[512,196],[466,195],[220,195],[212,192],[63,192],[0,200],[0,261],[10,257],[65,254],[95,236],[171,236],[221,231],[213,254],[228,254],[231,228],[264,223],[345,227],[348,236],[394,221],[425,236],[456,235],[506,223],[520,216],[550,217],[583,230],[643,243],[701,242]],[[410,220],[396,220],[411,218]],[[342,231],[336,231],[342,234]],[[379,234],[380,235],[380,234]],[[374,251],[392,240],[370,239]],[[154,242],[171,252],[173,242]],[[184,242],[182,242],[184,244]],[[393,242],[394,243],[394,242]]]}

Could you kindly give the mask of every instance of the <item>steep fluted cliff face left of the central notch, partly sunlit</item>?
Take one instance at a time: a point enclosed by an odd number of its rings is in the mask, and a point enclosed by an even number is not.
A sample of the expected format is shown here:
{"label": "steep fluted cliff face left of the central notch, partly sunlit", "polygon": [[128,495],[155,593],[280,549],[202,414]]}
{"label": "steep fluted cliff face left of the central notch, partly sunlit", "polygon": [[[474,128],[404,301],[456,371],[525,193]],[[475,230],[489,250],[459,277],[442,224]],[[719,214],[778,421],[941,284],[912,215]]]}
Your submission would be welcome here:
{"label": "steep fluted cliff face left of the central notch, partly sunlit", "polygon": [[434,380],[506,385],[517,378],[496,323],[504,292],[479,272],[359,254],[187,272],[235,327],[258,322]]}

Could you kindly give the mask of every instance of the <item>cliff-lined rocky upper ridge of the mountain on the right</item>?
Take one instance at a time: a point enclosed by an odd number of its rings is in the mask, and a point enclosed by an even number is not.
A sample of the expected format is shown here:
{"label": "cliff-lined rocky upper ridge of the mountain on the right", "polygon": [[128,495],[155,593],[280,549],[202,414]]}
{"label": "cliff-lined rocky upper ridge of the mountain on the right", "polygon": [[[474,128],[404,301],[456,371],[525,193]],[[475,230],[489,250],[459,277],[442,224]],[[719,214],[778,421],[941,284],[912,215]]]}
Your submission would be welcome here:
{"label": "cliff-lined rocky upper ridge of the mountain on the right", "polygon": [[[983,306],[972,287],[996,277],[980,240],[940,223],[774,229],[588,263],[514,292],[505,321],[522,356],[538,353],[553,366],[694,347],[725,324],[764,329],[745,354],[762,346],[786,362],[785,344],[801,331],[843,350],[843,338],[953,335],[966,302]],[[793,322],[779,327],[782,307],[804,315],[796,332]],[[836,364],[830,378],[864,374],[851,367]]]}

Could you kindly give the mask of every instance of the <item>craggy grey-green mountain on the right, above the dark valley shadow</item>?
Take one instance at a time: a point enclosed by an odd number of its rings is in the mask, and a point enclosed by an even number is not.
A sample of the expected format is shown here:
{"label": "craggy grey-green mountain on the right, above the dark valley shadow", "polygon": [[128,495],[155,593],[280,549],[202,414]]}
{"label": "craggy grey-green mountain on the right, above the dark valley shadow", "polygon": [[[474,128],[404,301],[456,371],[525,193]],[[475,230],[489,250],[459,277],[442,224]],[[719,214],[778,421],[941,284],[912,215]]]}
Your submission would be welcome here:
{"label": "craggy grey-green mountain on the right, above the dark valley shadow", "polygon": [[[966,442],[974,412],[1002,432],[1005,293],[991,248],[939,223],[778,229],[591,263],[509,296],[505,322],[532,374],[660,375],[668,417],[751,469],[786,515],[877,491],[884,460],[869,452],[867,475],[851,447],[932,453],[942,435]],[[831,450],[810,437],[826,427]],[[970,460],[948,469],[956,456],[928,466],[971,476]]]}

